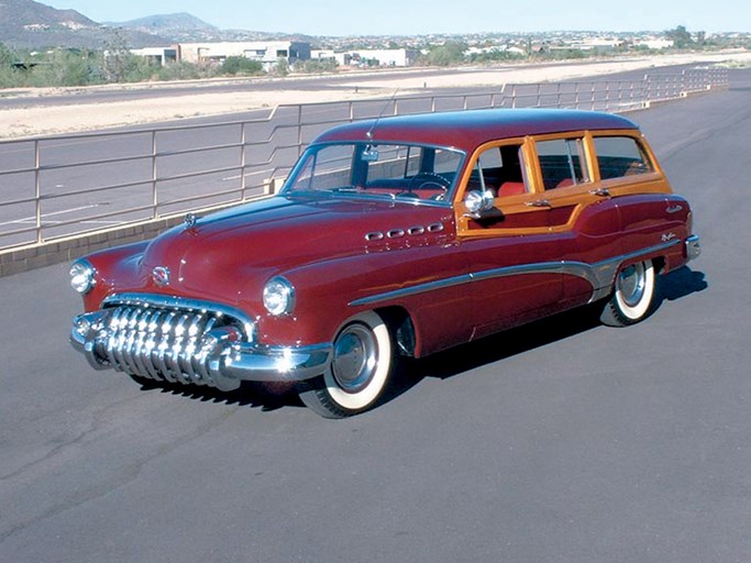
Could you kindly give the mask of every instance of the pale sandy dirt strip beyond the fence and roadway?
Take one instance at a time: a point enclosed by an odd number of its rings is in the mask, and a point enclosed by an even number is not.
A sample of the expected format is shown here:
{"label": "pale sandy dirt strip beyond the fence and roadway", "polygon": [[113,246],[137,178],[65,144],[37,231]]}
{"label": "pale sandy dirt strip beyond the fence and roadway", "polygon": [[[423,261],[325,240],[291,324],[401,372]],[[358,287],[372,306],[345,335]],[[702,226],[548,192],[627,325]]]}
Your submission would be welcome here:
{"label": "pale sandy dirt strip beyond the fence and roadway", "polygon": [[[70,89],[34,89],[0,91],[0,140],[40,136],[58,133],[93,131],[113,126],[155,123],[184,118],[236,113],[259,108],[287,103],[312,103],[351,99],[383,98],[395,90],[408,95],[426,87],[451,88],[496,87],[504,84],[559,81],[571,78],[601,76],[637,69],[651,69],[683,64],[751,64],[751,53],[684,54],[658,57],[629,57],[599,64],[561,63],[523,67],[507,65],[478,71],[476,68],[456,69],[441,76],[421,77],[419,73],[383,73],[383,78],[368,80],[367,88],[357,89],[357,74],[342,82],[351,90],[308,91],[285,89],[284,85],[295,78],[277,79],[279,89],[256,90],[249,88],[242,92],[202,93],[201,85],[195,82],[196,91],[190,95],[143,98],[129,101],[90,102],[87,93],[101,89],[129,88],[129,86],[104,86]],[[181,84],[184,86],[185,84]],[[143,87],[144,85],[141,85]],[[133,88],[134,86],[130,86]],[[169,84],[150,84],[150,89],[170,88]],[[79,95],[80,103],[41,106],[43,97]],[[23,107],[3,108],[2,99],[23,98]]]}

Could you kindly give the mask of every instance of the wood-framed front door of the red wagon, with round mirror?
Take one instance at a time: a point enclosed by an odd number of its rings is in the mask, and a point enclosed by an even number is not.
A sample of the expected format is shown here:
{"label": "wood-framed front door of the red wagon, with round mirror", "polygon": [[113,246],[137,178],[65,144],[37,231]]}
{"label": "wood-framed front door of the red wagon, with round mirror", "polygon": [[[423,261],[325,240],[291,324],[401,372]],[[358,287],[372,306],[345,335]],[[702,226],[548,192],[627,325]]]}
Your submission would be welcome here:
{"label": "wood-framed front door of the red wagon, with round mirror", "polygon": [[562,296],[553,213],[537,186],[527,140],[482,146],[462,196],[490,190],[494,208],[472,217],[457,205],[459,238],[473,279],[473,338],[546,314]]}

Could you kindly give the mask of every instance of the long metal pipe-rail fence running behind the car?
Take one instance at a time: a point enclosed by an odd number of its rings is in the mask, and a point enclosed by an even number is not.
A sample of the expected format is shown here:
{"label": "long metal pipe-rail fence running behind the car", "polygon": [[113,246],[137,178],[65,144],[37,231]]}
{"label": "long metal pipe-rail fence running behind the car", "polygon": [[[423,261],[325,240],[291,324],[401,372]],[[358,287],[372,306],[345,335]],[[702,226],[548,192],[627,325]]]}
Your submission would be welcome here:
{"label": "long metal pipe-rail fence running behind the car", "polygon": [[485,93],[278,106],[247,121],[4,141],[0,254],[269,194],[305,146],[338,123],[481,108],[621,112],[727,84],[727,69],[696,68],[633,81],[511,84]]}

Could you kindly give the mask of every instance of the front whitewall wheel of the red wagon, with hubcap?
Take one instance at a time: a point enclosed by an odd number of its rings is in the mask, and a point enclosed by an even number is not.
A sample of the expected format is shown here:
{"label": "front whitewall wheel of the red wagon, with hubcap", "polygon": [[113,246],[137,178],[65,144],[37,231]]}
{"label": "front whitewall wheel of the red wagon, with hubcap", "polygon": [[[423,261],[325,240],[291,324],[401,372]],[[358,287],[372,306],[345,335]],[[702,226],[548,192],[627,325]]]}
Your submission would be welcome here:
{"label": "front whitewall wheel of the red wagon, with hubcap", "polygon": [[350,319],[334,339],[333,358],[322,377],[300,393],[302,402],[327,418],[363,412],[380,397],[394,364],[388,325],[376,312]]}

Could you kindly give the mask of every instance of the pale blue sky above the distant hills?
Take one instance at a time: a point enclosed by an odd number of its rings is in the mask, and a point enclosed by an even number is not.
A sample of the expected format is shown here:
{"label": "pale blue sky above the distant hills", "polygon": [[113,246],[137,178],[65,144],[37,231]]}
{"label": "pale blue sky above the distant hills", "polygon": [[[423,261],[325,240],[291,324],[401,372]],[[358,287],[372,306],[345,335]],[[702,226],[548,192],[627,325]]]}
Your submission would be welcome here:
{"label": "pale blue sky above the distant hills", "polygon": [[221,29],[308,35],[533,31],[751,32],[747,0],[41,0],[97,22],[187,12]]}

